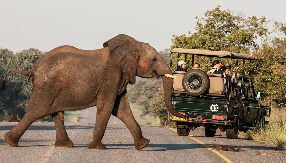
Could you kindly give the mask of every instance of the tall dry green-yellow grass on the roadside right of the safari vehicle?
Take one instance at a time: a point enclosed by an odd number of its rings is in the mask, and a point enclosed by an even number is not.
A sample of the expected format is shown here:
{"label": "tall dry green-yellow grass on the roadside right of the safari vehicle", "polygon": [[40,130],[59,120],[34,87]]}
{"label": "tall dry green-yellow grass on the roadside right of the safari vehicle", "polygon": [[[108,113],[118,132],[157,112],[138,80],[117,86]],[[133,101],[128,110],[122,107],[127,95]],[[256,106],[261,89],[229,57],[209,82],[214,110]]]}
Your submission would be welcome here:
{"label": "tall dry green-yellow grass on the roadside right of the safari vehicle", "polygon": [[277,146],[286,152],[286,108],[281,105],[272,106],[271,116],[265,119],[269,121],[265,129],[249,130],[242,136]]}

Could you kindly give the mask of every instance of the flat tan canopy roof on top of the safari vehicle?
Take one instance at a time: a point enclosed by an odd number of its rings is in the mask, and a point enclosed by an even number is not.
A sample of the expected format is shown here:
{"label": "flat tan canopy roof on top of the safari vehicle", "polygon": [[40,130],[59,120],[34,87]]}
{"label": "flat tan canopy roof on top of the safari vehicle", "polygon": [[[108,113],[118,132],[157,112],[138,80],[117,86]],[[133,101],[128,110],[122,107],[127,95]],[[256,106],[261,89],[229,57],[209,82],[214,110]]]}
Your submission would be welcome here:
{"label": "flat tan canopy roof on top of the safari vehicle", "polygon": [[256,57],[253,57],[248,54],[243,53],[235,53],[230,51],[211,51],[211,50],[201,50],[201,49],[184,49],[184,48],[174,48],[171,49],[172,53],[184,53],[184,54],[195,54],[206,57],[221,57],[221,58],[239,58],[239,59],[247,59],[247,60],[259,60]]}

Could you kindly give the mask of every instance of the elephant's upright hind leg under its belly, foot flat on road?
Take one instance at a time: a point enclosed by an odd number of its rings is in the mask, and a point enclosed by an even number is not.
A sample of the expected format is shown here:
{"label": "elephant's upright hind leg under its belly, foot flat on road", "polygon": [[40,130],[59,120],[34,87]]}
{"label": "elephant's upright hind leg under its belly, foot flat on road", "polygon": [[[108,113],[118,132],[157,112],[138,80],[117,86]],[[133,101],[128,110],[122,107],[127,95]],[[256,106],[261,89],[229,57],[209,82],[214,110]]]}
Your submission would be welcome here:
{"label": "elephant's upright hind leg under its belly, foot flat on road", "polygon": [[73,147],[74,143],[67,136],[67,132],[65,130],[65,125],[63,123],[63,112],[57,112],[51,114],[53,117],[53,121],[55,123],[56,130],[56,147]]}

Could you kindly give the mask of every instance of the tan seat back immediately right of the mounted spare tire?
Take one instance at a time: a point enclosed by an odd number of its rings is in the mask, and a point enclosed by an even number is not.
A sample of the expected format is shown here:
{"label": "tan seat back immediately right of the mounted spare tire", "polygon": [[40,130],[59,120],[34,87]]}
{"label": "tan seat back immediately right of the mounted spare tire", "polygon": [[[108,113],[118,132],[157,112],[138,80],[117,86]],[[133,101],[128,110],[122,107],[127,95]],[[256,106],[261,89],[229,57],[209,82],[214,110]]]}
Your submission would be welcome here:
{"label": "tan seat back immediately right of the mounted spare tire", "polygon": [[[210,75],[222,76],[218,73],[211,73]],[[210,89],[208,90],[209,94],[224,94],[225,93],[225,83],[222,77],[213,77],[208,76],[210,79]]]}

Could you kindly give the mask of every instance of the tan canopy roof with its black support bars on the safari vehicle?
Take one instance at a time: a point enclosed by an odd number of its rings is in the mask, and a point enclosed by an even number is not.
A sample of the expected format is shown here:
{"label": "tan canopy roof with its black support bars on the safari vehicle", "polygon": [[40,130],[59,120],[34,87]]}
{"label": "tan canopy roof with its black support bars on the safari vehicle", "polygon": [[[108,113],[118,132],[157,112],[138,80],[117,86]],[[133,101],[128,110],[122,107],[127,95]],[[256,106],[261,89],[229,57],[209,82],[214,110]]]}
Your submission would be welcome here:
{"label": "tan canopy roof with its black support bars on the safari vehicle", "polygon": [[[174,49],[171,49],[170,52],[171,52],[171,59],[170,59],[170,69],[171,69],[171,71],[172,71],[173,53],[177,53],[178,54],[177,55],[177,67],[178,67],[178,62],[179,62],[181,53],[185,54],[185,56],[184,56],[185,63],[187,61],[187,54],[192,55],[192,67],[191,67],[191,69],[193,69],[193,67],[194,67],[194,55],[205,56],[205,57],[229,58],[229,70],[231,69],[231,60],[232,59],[236,59],[235,82],[234,83],[230,82],[231,71],[229,71],[228,79],[226,77],[224,77],[224,76],[215,76],[215,75],[208,75],[208,76],[222,77],[222,78],[227,80],[227,88],[226,88],[226,93],[225,93],[225,99],[231,100],[230,88],[229,88],[229,86],[231,86],[230,84],[234,85],[232,96],[234,96],[235,90],[237,90],[236,92],[238,94],[237,86],[238,86],[238,88],[240,88],[240,90],[239,90],[240,91],[240,96],[239,96],[240,100],[239,101],[241,101],[241,96],[242,96],[242,93],[244,93],[244,92],[247,92],[245,99],[247,99],[247,101],[249,101],[248,94],[250,93],[250,89],[248,87],[250,87],[250,86],[252,86],[253,95],[255,96],[255,90],[254,90],[254,87],[253,87],[253,82],[251,80],[251,63],[252,63],[252,60],[259,60],[258,58],[253,57],[253,56],[248,55],[248,54],[243,54],[243,53],[235,53],[235,52],[229,52],[229,51],[210,51],[210,50],[201,50],[201,49],[174,48]],[[242,77],[239,77],[239,79],[241,79],[241,86],[236,84],[236,82],[237,82],[237,67],[238,67],[238,60],[239,59],[243,59],[243,73],[242,73]],[[249,62],[249,77],[245,77],[244,76],[245,60],[250,60],[250,62]],[[184,68],[184,71],[186,71],[186,67]],[[248,87],[243,85],[244,78],[245,78],[245,81],[248,82]],[[246,91],[243,91],[243,88],[245,88]],[[229,96],[227,96],[227,95],[229,95]],[[237,98],[238,97],[236,96],[236,100],[237,100]]]}

